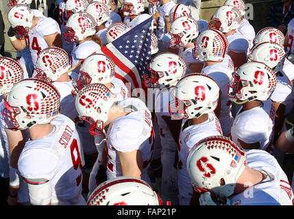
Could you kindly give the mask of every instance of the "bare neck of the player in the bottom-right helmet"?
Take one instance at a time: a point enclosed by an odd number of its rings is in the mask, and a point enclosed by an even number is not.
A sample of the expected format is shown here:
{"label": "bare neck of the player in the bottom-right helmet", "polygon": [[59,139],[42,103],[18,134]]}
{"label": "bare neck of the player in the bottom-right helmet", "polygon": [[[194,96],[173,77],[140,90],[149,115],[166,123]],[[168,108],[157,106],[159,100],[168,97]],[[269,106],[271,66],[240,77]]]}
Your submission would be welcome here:
{"label": "bare neck of the player in the bottom-right helmet", "polygon": [[258,170],[254,170],[249,168],[248,166],[245,167],[241,176],[236,181],[236,187],[234,188],[234,193],[239,194],[246,190],[249,187],[252,187],[262,180],[266,179],[267,176],[259,172]]}

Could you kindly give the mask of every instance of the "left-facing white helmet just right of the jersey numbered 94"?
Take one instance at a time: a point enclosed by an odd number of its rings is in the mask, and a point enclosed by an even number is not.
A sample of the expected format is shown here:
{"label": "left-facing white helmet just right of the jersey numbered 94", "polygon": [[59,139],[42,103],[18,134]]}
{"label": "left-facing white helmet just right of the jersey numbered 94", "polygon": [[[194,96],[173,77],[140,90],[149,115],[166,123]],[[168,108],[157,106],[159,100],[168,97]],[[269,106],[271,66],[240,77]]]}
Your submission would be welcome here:
{"label": "left-facing white helmet just right of the jersey numbered 94", "polygon": [[88,36],[96,34],[96,21],[92,15],[86,12],[77,12],[69,17],[63,32],[64,40],[73,43],[84,40]]}

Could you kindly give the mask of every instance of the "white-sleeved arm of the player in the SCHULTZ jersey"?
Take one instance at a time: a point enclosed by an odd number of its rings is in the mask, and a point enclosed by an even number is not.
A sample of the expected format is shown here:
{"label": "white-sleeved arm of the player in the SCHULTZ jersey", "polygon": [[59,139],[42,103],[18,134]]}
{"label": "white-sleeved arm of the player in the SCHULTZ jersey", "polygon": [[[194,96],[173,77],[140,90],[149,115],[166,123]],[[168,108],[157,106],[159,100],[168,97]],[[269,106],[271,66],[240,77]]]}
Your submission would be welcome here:
{"label": "white-sleeved arm of the player in the SCHULTZ jersey", "polygon": [[52,186],[48,179],[27,179],[29,201],[32,205],[51,205]]}

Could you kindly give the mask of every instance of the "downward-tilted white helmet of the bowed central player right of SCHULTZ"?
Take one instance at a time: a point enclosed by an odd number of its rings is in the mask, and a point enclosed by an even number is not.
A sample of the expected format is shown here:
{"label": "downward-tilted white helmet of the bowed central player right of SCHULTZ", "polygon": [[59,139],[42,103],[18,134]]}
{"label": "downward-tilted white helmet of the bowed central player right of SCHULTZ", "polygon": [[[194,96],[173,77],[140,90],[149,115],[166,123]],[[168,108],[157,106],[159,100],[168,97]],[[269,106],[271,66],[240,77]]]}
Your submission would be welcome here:
{"label": "downward-tilted white helmet of the bowed central player right of SCHULTZ", "polygon": [[101,83],[91,83],[77,92],[75,107],[79,118],[90,123],[91,135],[97,136],[103,133],[108,112],[116,100],[117,96]]}

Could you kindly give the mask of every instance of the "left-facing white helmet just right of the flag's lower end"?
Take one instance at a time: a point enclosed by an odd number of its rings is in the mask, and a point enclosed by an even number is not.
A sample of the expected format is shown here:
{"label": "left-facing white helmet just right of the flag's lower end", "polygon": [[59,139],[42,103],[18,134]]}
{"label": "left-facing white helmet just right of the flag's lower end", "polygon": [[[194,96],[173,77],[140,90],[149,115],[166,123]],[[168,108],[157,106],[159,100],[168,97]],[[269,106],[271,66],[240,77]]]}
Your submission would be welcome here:
{"label": "left-facing white helmet just right of the flag's lower end", "polygon": [[170,88],[186,73],[186,63],[175,53],[156,55],[147,68],[150,73],[144,74],[144,81],[148,88]]}

